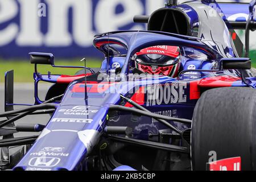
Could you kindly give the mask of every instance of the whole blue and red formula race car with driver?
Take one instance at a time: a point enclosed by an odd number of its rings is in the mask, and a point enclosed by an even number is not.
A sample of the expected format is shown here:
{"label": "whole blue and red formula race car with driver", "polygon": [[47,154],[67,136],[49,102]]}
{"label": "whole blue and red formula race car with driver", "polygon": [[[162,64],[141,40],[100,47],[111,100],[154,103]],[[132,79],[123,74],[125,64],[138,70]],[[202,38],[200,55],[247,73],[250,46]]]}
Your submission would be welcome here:
{"label": "whole blue and red formula race car with driver", "polygon": [[[245,29],[247,55],[253,7],[255,1],[170,1],[151,16],[135,16],[148,31],[96,35],[94,47],[105,56],[100,70],[85,66],[75,76],[40,74],[39,64],[60,66],[51,53],[30,53],[34,105],[13,109],[14,75],[6,72],[1,168],[256,169],[256,78],[232,29]],[[226,18],[234,9],[249,18]],[[38,97],[41,81],[53,83],[45,101]],[[51,119],[46,126],[14,125],[30,114]],[[13,137],[27,131],[41,133]]]}

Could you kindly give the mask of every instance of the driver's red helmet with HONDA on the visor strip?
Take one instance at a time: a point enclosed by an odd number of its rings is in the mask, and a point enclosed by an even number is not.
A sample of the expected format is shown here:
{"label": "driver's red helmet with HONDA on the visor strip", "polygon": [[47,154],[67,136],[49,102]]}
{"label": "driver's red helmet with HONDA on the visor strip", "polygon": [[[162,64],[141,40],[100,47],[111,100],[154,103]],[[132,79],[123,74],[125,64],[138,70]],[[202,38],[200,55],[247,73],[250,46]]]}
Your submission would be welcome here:
{"label": "driver's red helmet with HONDA on the visor strip", "polygon": [[152,46],[135,53],[135,67],[143,72],[177,77],[180,68],[180,48]]}

